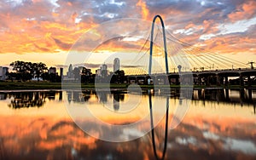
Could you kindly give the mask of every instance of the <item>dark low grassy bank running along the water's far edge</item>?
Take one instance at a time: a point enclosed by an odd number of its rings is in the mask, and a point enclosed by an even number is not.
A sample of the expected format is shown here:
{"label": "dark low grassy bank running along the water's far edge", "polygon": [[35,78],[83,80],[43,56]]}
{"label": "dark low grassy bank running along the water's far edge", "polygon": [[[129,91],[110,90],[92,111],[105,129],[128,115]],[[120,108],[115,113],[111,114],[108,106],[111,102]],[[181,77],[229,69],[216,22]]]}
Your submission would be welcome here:
{"label": "dark low grassy bank running along the water's far edge", "polygon": [[[49,82],[0,82],[0,90],[20,90],[20,89],[132,89],[137,88],[137,84],[127,83],[102,83],[95,86],[94,83],[49,83]],[[139,85],[141,89],[163,89],[170,87],[171,89],[178,89],[180,85]],[[240,86],[240,85],[194,85],[194,86],[182,86],[184,88],[193,89],[256,89],[256,85],[252,86]]]}

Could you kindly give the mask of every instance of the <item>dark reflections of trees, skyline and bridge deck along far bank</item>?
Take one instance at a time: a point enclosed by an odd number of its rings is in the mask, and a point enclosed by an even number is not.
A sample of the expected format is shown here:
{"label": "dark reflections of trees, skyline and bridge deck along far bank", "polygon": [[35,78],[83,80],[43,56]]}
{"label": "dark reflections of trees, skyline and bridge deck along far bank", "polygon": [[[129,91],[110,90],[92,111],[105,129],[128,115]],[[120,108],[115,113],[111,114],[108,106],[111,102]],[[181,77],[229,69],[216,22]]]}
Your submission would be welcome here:
{"label": "dark reflections of trees, skyline and bridge deck along far bank", "polygon": [[[158,93],[158,91],[155,91]],[[27,107],[27,106],[43,106],[44,103],[40,102],[41,99],[47,100],[62,100],[62,91],[40,91],[39,94],[33,92],[9,92],[0,93],[0,100],[14,99],[10,106],[14,107]],[[120,107],[119,102],[124,101],[125,91],[111,93],[99,92],[96,94],[93,90],[83,90],[82,93],[76,91],[67,92],[67,100],[74,102],[87,102],[90,100],[91,95],[96,95],[96,99],[102,103],[108,103],[109,100],[113,101],[113,110],[117,111]],[[193,92],[192,100],[201,100],[203,105],[206,105],[208,100],[216,101],[218,103],[238,104],[239,106],[253,106],[253,113],[256,113],[256,99],[255,90],[253,89],[195,89]],[[159,92],[154,96],[166,96],[165,92]],[[179,99],[180,90],[172,89],[171,97]],[[38,97],[38,102],[35,98]],[[33,102],[31,100],[34,100]],[[44,101],[43,100],[43,101]],[[38,103],[38,104],[37,104]],[[195,101],[196,103],[196,101]]]}

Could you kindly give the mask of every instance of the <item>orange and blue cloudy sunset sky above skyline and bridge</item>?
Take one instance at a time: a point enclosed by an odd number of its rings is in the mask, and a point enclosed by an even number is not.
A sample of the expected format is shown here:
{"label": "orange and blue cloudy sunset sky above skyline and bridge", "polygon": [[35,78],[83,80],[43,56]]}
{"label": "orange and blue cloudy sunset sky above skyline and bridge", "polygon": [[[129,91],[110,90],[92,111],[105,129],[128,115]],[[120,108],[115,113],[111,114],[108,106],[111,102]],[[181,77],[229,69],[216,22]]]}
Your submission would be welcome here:
{"label": "orange and blue cloudy sunset sky above skyline and bridge", "polygon": [[[229,54],[244,63],[256,58],[253,0],[2,0],[0,66],[9,66],[15,60],[63,66],[73,44],[91,28],[119,20],[119,26],[128,31],[131,28],[122,19],[152,20],[156,14],[162,16],[166,30],[185,43]],[[116,35],[120,36],[121,32]],[[108,48],[102,50],[126,49],[127,45],[120,43],[124,39],[107,42]],[[127,37],[125,41],[130,43],[129,49],[142,45]]]}

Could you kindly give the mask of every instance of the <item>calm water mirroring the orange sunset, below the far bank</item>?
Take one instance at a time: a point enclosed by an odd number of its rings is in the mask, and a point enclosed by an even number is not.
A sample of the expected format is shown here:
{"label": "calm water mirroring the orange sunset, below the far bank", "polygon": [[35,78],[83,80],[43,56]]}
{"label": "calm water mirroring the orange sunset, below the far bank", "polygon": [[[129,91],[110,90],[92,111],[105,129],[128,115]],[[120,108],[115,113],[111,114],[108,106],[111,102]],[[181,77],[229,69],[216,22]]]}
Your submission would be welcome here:
{"label": "calm water mirroring the orange sunset, below the far bank", "polygon": [[[2,91],[0,159],[156,159],[165,142],[165,159],[256,158],[256,91],[206,89],[194,90],[193,100],[179,96],[179,90]],[[177,118],[181,112],[185,116]],[[78,122],[90,126],[84,128],[88,134],[73,119],[83,119]],[[114,133],[113,126],[142,119],[135,128]]]}

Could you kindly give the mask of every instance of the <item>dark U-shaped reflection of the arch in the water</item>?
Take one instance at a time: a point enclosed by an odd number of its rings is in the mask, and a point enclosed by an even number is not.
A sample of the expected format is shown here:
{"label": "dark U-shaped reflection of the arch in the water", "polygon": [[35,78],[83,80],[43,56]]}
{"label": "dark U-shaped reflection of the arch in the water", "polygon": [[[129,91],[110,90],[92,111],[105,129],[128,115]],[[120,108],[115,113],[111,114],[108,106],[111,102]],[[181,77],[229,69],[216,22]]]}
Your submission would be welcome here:
{"label": "dark U-shaped reflection of the arch in the water", "polygon": [[166,155],[166,144],[168,139],[168,117],[169,117],[169,98],[166,97],[166,129],[165,129],[165,144],[164,144],[164,150],[162,152],[162,157],[158,157],[155,147],[155,140],[154,140],[154,120],[153,120],[153,112],[152,112],[152,95],[148,94],[148,100],[149,100],[149,110],[150,110],[150,121],[151,121],[151,134],[152,134],[152,145],[154,149],[154,157],[156,159],[164,159]]}

